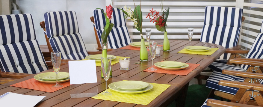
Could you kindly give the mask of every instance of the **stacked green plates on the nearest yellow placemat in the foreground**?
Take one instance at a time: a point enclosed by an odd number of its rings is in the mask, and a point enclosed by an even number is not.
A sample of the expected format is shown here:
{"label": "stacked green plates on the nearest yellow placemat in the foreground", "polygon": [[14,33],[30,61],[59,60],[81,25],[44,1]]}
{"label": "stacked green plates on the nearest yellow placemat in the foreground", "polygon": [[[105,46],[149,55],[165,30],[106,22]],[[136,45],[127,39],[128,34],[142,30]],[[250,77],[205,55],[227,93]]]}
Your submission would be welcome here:
{"label": "stacked green plates on the nearest yellow placemat in the foreground", "polygon": [[153,85],[142,81],[120,81],[109,84],[113,91],[124,94],[138,94],[150,91]]}

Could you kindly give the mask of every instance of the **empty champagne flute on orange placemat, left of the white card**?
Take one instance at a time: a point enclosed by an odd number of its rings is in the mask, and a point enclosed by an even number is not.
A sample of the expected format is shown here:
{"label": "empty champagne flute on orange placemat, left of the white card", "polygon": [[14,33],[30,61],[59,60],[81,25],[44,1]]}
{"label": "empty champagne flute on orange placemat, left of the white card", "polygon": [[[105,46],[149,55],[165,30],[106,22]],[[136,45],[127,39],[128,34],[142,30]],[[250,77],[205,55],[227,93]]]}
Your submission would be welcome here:
{"label": "empty champagne flute on orange placemat, left of the white card", "polygon": [[63,85],[58,84],[58,72],[60,69],[61,52],[51,52],[51,60],[52,60],[53,69],[57,77],[57,83],[56,85],[53,85],[52,87],[62,87]]}

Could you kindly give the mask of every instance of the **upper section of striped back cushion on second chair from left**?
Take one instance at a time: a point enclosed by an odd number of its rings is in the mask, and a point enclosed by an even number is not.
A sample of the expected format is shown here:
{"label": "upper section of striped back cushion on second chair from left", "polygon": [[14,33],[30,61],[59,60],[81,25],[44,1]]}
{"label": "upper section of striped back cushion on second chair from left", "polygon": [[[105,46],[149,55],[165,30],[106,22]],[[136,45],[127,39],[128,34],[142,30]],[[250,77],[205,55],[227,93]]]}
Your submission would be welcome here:
{"label": "upper section of striped back cushion on second chair from left", "polygon": [[75,11],[53,11],[44,14],[47,37],[78,33]]}

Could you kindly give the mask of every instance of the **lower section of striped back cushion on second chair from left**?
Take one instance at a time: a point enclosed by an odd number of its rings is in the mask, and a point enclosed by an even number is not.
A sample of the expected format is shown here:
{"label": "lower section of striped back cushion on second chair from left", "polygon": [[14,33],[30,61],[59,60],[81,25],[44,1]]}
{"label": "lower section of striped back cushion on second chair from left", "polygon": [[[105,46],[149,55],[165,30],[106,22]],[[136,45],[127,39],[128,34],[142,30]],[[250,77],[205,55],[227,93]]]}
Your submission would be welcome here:
{"label": "lower section of striped back cushion on second chair from left", "polygon": [[54,52],[61,52],[61,59],[81,60],[88,56],[79,33],[52,37],[49,42]]}

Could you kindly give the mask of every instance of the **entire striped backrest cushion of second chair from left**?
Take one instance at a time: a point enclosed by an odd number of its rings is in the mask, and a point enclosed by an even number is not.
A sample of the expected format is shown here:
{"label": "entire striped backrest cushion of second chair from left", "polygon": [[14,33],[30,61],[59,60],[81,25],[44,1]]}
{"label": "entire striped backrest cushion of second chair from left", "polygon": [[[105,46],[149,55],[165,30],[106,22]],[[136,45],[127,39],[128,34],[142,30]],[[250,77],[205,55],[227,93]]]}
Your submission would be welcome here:
{"label": "entire striped backrest cushion of second chair from left", "polygon": [[61,52],[62,59],[81,60],[88,53],[78,30],[75,11],[55,11],[44,14],[49,43],[54,52]]}

